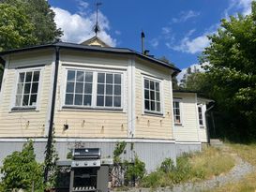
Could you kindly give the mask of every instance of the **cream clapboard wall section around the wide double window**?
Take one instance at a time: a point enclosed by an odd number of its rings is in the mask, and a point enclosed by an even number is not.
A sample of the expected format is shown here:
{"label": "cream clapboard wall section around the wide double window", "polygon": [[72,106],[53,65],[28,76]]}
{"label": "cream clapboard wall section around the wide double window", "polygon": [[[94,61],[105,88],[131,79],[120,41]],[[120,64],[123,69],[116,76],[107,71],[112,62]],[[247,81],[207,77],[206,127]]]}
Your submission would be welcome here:
{"label": "cream clapboard wall section around the wide double window", "polygon": [[[54,127],[56,137],[126,138],[128,137],[128,58],[92,52],[61,52],[61,66],[55,106]],[[113,59],[114,58],[114,59]],[[84,67],[124,71],[124,111],[63,110],[65,67]],[[68,124],[68,130],[63,130]]]}

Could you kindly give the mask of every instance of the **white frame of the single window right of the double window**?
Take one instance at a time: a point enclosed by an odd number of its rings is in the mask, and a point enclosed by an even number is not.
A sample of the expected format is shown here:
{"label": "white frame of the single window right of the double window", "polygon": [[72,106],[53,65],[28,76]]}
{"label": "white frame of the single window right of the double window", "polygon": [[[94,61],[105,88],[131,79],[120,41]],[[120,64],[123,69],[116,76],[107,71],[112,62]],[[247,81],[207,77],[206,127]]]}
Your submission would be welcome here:
{"label": "white frame of the single window right of the double window", "polygon": [[[144,80],[149,80],[149,81],[157,81],[159,83],[159,94],[160,94],[160,111],[147,111],[145,110],[145,106],[144,106]],[[162,80],[158,79],[158,78],[154,78],[148,75],[143,75],[142,76],[142,107],[143,107],[143,114],[157,114],[157,115],[163,115],[163,111],[164,111],[164,96],[163,96],[163,87],[162,87]]]}

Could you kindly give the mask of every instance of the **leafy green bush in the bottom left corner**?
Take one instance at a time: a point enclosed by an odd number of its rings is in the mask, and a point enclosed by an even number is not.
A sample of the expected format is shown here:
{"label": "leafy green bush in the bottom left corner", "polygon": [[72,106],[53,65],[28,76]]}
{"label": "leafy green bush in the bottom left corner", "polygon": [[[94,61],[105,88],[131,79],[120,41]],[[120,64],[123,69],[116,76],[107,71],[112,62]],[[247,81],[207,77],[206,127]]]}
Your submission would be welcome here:
{"label": "leafy green bush in the bottom left corner", "polygon": [[22,188],[30,191],[34,183],[35,191],[43,191],[43,166],[36,161],[33,142],[23,145],[22,152],[8,155],[1,168],[3,173],[1,191]]}

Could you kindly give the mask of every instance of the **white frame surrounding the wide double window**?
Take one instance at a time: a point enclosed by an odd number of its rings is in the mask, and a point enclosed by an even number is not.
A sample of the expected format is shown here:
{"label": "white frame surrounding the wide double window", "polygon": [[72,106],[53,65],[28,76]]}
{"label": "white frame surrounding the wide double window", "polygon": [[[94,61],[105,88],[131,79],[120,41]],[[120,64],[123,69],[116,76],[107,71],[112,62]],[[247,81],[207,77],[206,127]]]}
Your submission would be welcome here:
{"label": "white frame surrounding the wide double window", "polygon": [[[92,67],[72,67],[67,66],[64,68],[65,70],[65,81],[64,81],[64,91],[63,91],[63,101],[62,101],[62,109],[81,109],[81,110],[102,110],[102,111],[124,111],[124,76],[125,72],[121,70],[114,69],[105,69],[105,68],[92,68]],[[67,89],[67,81],[68,81],[68,70],[83,70],[87,72],[93,72],[93,88],[92,88],[92,101],[91,106],[83,106],[83,105],[66,105],[66,89]],[[113,73],[121,75],[121,106],[120,107],[104,107],[97,106],[97,88],[98,88],[98,73]]]}

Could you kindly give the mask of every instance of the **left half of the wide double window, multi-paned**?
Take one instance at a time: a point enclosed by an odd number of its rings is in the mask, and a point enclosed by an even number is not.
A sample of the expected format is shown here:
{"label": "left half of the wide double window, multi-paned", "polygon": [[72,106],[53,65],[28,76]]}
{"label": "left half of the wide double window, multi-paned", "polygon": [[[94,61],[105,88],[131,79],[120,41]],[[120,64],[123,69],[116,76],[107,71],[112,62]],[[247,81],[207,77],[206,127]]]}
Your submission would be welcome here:
{"label": "left half of the wide double window, multi-paned", "polygon": [[93,72],[68,70],[66,105],[92,106]]}

